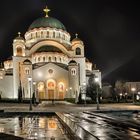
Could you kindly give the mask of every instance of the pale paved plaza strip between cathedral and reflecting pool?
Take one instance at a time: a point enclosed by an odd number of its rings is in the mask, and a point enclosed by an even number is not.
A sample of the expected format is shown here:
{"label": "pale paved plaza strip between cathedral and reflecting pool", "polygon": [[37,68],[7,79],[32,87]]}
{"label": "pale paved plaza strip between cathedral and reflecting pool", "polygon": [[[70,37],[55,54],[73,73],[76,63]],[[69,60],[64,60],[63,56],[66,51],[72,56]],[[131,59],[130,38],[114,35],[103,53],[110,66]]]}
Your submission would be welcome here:
{"label": "pale paved plaza strip between cathedral and reflecting pool", "polygon": [[[67,102],[62,103],[42,103],[37,106],[32,105],[32,111],[29,111],[29,104],[18,103],[0,103],[0,110],[4,112],[81,112],[81,111],[97,111],[96,104],[71,104]],[[100,104],[100,111],[122,111],[122,110],[138,110],[140,105],[133,105],[131,103],[117,103],[117,104]]]}

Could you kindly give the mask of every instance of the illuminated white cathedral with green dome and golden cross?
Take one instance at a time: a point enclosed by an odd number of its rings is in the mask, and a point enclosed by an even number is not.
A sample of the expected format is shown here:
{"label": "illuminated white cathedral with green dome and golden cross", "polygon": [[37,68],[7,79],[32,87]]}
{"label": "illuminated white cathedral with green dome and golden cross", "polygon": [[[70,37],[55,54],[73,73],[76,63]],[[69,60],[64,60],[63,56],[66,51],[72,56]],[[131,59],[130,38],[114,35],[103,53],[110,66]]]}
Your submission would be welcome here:
{"label": "illuminated white cathedral with green dome and golden cross", "polygon": [[45,16],[29,26],[24,37],[18,33],[13,40],[12,57],[0,66],[0,94],[2,98],[29,99],[35,93],[39,100],[78,101],[82,87],[90,74],[99,78],[101,72],[89,62],[84,42],[78,34],[71,39],[65,26],[56,18]]}

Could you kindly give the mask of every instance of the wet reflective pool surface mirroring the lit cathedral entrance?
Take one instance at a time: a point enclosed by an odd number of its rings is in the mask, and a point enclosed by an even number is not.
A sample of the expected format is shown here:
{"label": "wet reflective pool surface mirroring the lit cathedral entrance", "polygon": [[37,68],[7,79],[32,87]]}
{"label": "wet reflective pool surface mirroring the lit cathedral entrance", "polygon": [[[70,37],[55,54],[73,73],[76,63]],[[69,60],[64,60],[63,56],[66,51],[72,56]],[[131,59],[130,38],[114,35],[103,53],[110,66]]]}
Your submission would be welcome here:
{"label": "wet reflective pool surface mirroring the lit cathedral entrance", "polygon": [[56,116],[0,117],[0,132],[27,139],[67,140]]}

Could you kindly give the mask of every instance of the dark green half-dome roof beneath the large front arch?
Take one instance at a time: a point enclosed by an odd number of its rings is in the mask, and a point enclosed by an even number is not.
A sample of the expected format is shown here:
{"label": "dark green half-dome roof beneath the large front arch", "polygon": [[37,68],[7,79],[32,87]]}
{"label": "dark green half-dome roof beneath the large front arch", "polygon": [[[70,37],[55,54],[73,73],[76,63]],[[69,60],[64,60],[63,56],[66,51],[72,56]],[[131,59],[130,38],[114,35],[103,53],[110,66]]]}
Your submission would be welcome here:
{"label": "dark green half-dome roof beneath the large front arch", "polygon": [[59,48],[56,48],[54,46],[42,46],[39,49],[37,49],[36,52],[59,52],[59,53],[62,53],[62,51]]}

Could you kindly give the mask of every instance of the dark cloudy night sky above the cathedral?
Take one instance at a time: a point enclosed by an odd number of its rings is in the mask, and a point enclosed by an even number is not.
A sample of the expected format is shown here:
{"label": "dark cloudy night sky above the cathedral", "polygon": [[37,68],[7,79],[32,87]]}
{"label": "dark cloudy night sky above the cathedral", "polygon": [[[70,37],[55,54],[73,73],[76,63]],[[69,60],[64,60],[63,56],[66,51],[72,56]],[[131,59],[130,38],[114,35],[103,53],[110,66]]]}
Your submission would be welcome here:
{"label": "dark cloudy night sky above the cathedral", "polygon": [[84,41],[86,57],[103,81],[140,81],[140,4],[138,0],[1,0],[0,61],[12,55],[12,41],[44,16],[60,20]]}

